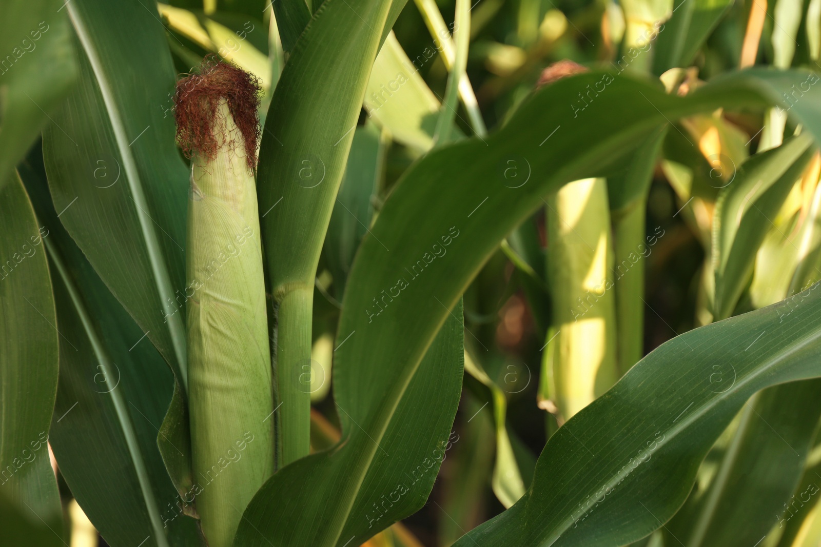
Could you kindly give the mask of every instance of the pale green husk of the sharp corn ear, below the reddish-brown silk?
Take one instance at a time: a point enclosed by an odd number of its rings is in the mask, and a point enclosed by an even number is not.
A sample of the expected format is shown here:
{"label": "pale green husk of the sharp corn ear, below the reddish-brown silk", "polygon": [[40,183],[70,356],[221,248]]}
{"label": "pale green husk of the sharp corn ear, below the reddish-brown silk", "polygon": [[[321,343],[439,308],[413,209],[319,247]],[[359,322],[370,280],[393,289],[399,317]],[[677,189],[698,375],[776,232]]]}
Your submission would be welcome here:
{"label": "pale green husk of the sharp corn ear, below the reddish-brown silk", "polygon": [[273,392],[255,180],[225,98],[213,121],[216,155],[191,162],[189,413],[202,531],[228,547],[273,474]]}

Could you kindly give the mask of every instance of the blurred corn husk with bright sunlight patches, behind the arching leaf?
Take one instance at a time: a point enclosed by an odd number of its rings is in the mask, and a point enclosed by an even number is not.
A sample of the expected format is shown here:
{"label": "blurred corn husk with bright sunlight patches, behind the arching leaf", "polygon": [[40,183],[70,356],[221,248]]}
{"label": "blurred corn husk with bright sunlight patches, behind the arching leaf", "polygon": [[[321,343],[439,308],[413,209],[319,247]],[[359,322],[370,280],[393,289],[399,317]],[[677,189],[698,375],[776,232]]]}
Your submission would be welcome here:
{"label": "blurred corn husk with bright sunlight patches, behind the arching leaf", "polygon": [[551,399],[567,420],[618,380],[608,191],[576,180],[548,198],[548,277],[553,326],[544,350]]}

